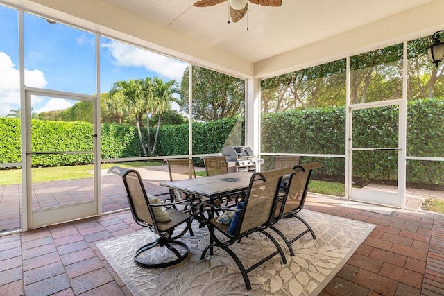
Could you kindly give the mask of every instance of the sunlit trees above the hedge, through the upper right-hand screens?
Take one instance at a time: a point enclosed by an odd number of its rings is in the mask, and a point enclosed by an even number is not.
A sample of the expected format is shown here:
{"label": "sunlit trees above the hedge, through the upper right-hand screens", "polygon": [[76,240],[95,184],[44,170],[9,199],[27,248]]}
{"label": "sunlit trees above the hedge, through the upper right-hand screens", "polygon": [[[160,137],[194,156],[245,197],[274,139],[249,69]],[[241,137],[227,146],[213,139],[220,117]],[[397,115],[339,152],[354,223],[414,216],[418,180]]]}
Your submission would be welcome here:
{"label": "sunlit trees above the hedge, through the upper right-hand screens", "polygon": [[[427,58],[429,37],[407,42],[407,99],[444,96],[444,63]],[[343,106],[345,59],[263,80],[262,112]],[[402,98],[403,44],[350,57],[350,103]],[[440,79],[441,78],[441,79]]]}

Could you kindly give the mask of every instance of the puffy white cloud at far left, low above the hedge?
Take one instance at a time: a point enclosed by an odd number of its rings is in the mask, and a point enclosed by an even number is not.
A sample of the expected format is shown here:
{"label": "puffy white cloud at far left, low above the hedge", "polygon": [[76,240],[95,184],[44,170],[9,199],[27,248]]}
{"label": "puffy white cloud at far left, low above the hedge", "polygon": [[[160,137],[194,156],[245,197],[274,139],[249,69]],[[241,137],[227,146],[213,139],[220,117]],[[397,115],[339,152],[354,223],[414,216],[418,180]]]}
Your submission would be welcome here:
{"label": "puffy white cloud at far left, low above the hedge", "polygon": [[[26,85],[45,87],[48,83],[39,70],[25,69]],[[0,52],[0,116],[20,107],[20,73],[6,53]]]}

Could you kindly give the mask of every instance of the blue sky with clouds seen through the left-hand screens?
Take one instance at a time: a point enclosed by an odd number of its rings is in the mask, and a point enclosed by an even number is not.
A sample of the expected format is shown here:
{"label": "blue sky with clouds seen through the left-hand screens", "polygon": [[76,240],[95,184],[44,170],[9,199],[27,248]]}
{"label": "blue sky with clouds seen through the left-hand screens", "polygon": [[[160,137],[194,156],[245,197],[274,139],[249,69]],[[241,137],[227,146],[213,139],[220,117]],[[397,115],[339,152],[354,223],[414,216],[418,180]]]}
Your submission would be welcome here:
{"label": "blue sky with clouds seen through the left-hand screens", "polygon": [[[0,116],[19,109],[17,10],[0,6]],[[186,62],[101,37],[101,90],[130,78],[160,77],[180,83]],[[96,94],[96,35],[42,17],[24,14],[24,66],[27,86]],[[60,110],[73,101],[33,100],[34,111]]]}

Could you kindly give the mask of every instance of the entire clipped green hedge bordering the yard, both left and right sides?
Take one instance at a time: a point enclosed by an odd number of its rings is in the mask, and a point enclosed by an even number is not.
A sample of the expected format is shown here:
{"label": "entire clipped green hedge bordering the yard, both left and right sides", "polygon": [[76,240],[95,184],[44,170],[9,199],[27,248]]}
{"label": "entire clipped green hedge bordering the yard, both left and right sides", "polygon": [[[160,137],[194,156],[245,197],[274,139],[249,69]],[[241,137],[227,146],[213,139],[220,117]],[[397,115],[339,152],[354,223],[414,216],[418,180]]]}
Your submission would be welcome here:
{"label": "entire clipped green hedge bordering the yard, both left and right sides", "polygon": [[[422,99],[409,102],[407,113],[407,155],[444,157],[444,100]],[[353,146],[393,148],[398,146],[398,107],[355,110]],[[92,150],[92,125],[85,122],[32,121],[33,151]],[[241,146],[244,119],[223,119],[193,125],[193,153],[218,153],[225,145]],[[326,107],[291,110],[262,116],[264,153],[345,154],[345,108]],[[155,155],[187,155],[189,125],[160,128]],[[151,143],[154,141],[153,131]],[[20,121],[0,118],[0,163],[20,162]],[[103,124],[102,158],[142,156],[136,129],[126,125]],[[354,153],[352,172],[368,179],[396,179],[395,152]],[[272,159],[271,159],[272,160]],[[325,164],[318,176],[344,180],[345,159],[302,157],[301,162]],[[88,164],[92,155],[35,155],[33,166]],[[196,162],[197,163],[197,162]],[[271,163],[267,161],[266,163]],[[386,170],[391,174],[387,175]],[[387,177],[388,176],[388,177]],[[409,184],[444,184],[443,162],[407,161]]]}

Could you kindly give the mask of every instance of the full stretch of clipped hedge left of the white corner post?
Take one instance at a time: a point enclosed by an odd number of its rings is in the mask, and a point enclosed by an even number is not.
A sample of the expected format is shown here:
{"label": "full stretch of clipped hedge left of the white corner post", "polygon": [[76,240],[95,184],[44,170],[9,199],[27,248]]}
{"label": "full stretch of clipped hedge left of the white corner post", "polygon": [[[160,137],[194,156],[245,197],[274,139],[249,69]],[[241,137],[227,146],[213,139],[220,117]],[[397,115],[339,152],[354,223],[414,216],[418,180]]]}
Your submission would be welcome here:
{"label": "full stretch of clipped hedge left of the white corner post", "polygon": [[[209,123],[194,123],[193,146],[195,154],[219,153],[233,130],[237,119],[223,119]],[[243,121],[240,123],[243,127]],[[242,131],[240,131],[242,132]],[[189,125],[164,125],[160,128],[155,155],[188,155]],[[155,130],[151,133],[154,142]],[[241,145],[239,141],[227,145]],[[20,162],[20,120],[0,118],[0,163]],[[92,151],[93,129],[91,123],[65,121],[31,121],[32,151]],[[103,159],[140,157],[143,155],[136,128],[128,125],[104,123],[101,126],[101,155]],[[92,154],[34,155],[33,166],[64,166],[90,164]]]}

